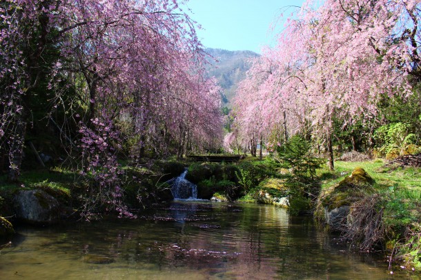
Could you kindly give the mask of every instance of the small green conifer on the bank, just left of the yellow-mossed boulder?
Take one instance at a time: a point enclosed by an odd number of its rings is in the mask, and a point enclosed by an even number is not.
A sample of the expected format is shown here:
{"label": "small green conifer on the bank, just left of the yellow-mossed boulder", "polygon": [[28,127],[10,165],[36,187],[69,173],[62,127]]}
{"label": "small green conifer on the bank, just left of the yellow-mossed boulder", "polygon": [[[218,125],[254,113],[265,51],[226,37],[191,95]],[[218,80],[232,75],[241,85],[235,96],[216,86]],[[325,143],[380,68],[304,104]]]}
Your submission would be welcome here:
{"label": "small green conifer on the bank, just left of the yellow-mossed boulder", "polygon": [[280,147],[277,147],[277,160],[285,168],[292,168],[296,177],[315,177],[316,170],[322,166],[324,159],[311,153],[311,143],[299,135],[295,135]]}

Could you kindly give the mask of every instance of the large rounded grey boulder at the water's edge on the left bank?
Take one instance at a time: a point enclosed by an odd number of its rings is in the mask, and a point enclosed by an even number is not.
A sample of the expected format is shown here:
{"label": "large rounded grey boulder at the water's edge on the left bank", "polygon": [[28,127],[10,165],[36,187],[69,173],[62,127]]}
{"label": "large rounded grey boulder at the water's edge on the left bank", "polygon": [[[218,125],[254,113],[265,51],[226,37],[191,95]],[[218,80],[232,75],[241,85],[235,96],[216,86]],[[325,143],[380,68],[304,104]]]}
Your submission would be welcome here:
{"label": "large rounded grey boulder at the water's edge on the left bank", "polygon": [[57,199],[42,190],[21,190],[14,197],[17,219],[35,225],[57,223],[60,219],[60,205]]}

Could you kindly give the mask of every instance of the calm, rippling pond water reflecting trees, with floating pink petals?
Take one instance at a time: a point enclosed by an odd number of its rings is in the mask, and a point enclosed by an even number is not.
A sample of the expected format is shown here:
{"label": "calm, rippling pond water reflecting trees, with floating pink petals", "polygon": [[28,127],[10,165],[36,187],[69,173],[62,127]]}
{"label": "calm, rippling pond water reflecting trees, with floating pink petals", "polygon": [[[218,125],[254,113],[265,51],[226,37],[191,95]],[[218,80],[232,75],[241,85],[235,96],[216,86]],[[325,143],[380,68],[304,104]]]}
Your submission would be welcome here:
{"label": "calm, rippling pond water reflecting trees, with floating pink petals", "polygon": [[17,230],[0,279],[415,279],[273,206],[176,201],[137,220]]}

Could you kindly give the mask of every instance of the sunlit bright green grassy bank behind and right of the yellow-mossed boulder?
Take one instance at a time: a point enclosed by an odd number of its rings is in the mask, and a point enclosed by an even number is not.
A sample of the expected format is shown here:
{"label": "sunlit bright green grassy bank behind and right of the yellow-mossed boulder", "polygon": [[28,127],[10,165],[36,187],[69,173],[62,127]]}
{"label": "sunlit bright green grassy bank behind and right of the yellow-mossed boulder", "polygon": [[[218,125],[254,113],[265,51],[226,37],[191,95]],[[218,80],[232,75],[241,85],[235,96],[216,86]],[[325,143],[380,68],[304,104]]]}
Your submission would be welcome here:
{"label": "sunlit bright green grassy bank behind and right of the yellow-mossed boulder", "polygon": [[[382,159],[337,161],[335,164],[335,172],[326,168],[317,170],[322,190],[333,188],[355,168],[364,168],[375,180],[374,192],[367,192],[351,204],[351,211],[360,211],[360,217],[368,212],[380,213],[377,226],[373,221],[358,221],[362,223],[358,229],[360,232],[351,232],[351,224],[342,232],[344,237],[351,237],[353,240],[349,241],[355,246],[364,242],[381,246],[388,252],[391,262],[400,263],[400,268],[421,271],[421,168],[403,168],[387,164]],[[357,223],[355,217],[351,221]],[[376,242],[370,243],[367,239]]]}

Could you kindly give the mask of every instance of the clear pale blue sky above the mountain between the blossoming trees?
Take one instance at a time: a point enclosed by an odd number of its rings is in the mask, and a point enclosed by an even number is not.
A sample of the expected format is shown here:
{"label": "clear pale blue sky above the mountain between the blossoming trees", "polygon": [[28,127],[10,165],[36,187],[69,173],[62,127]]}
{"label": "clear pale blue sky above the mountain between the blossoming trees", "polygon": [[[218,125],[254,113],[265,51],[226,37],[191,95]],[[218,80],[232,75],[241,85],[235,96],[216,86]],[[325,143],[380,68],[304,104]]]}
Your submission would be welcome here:
{"label": "clear pale blue sky above the mountain between the blossoming trees", "polygon": [[[190,17],[204,30],[198,30],[205,47],[225,50],[252,50],[273,43],[269,29],[280,14],[294,11],[304,0],[189,0]],[[282,26],[283,23],[277,23]]]}

